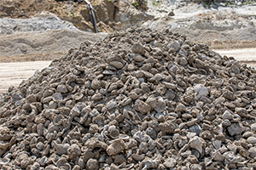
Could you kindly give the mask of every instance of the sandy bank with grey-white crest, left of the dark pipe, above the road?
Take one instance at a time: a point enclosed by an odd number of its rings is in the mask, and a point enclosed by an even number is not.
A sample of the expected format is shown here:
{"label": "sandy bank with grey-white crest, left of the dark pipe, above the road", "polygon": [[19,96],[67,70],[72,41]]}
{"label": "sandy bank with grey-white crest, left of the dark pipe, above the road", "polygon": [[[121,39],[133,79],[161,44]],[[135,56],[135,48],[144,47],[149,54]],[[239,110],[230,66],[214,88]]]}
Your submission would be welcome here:
{"label": "sandy bank with grey-white crest, left of the dark pipe, above the road", "polygon": [[84,41],[96,42],[108,34],[80,31],[55,14],[31,19],[0,19],[0,62],[59,59]]}

